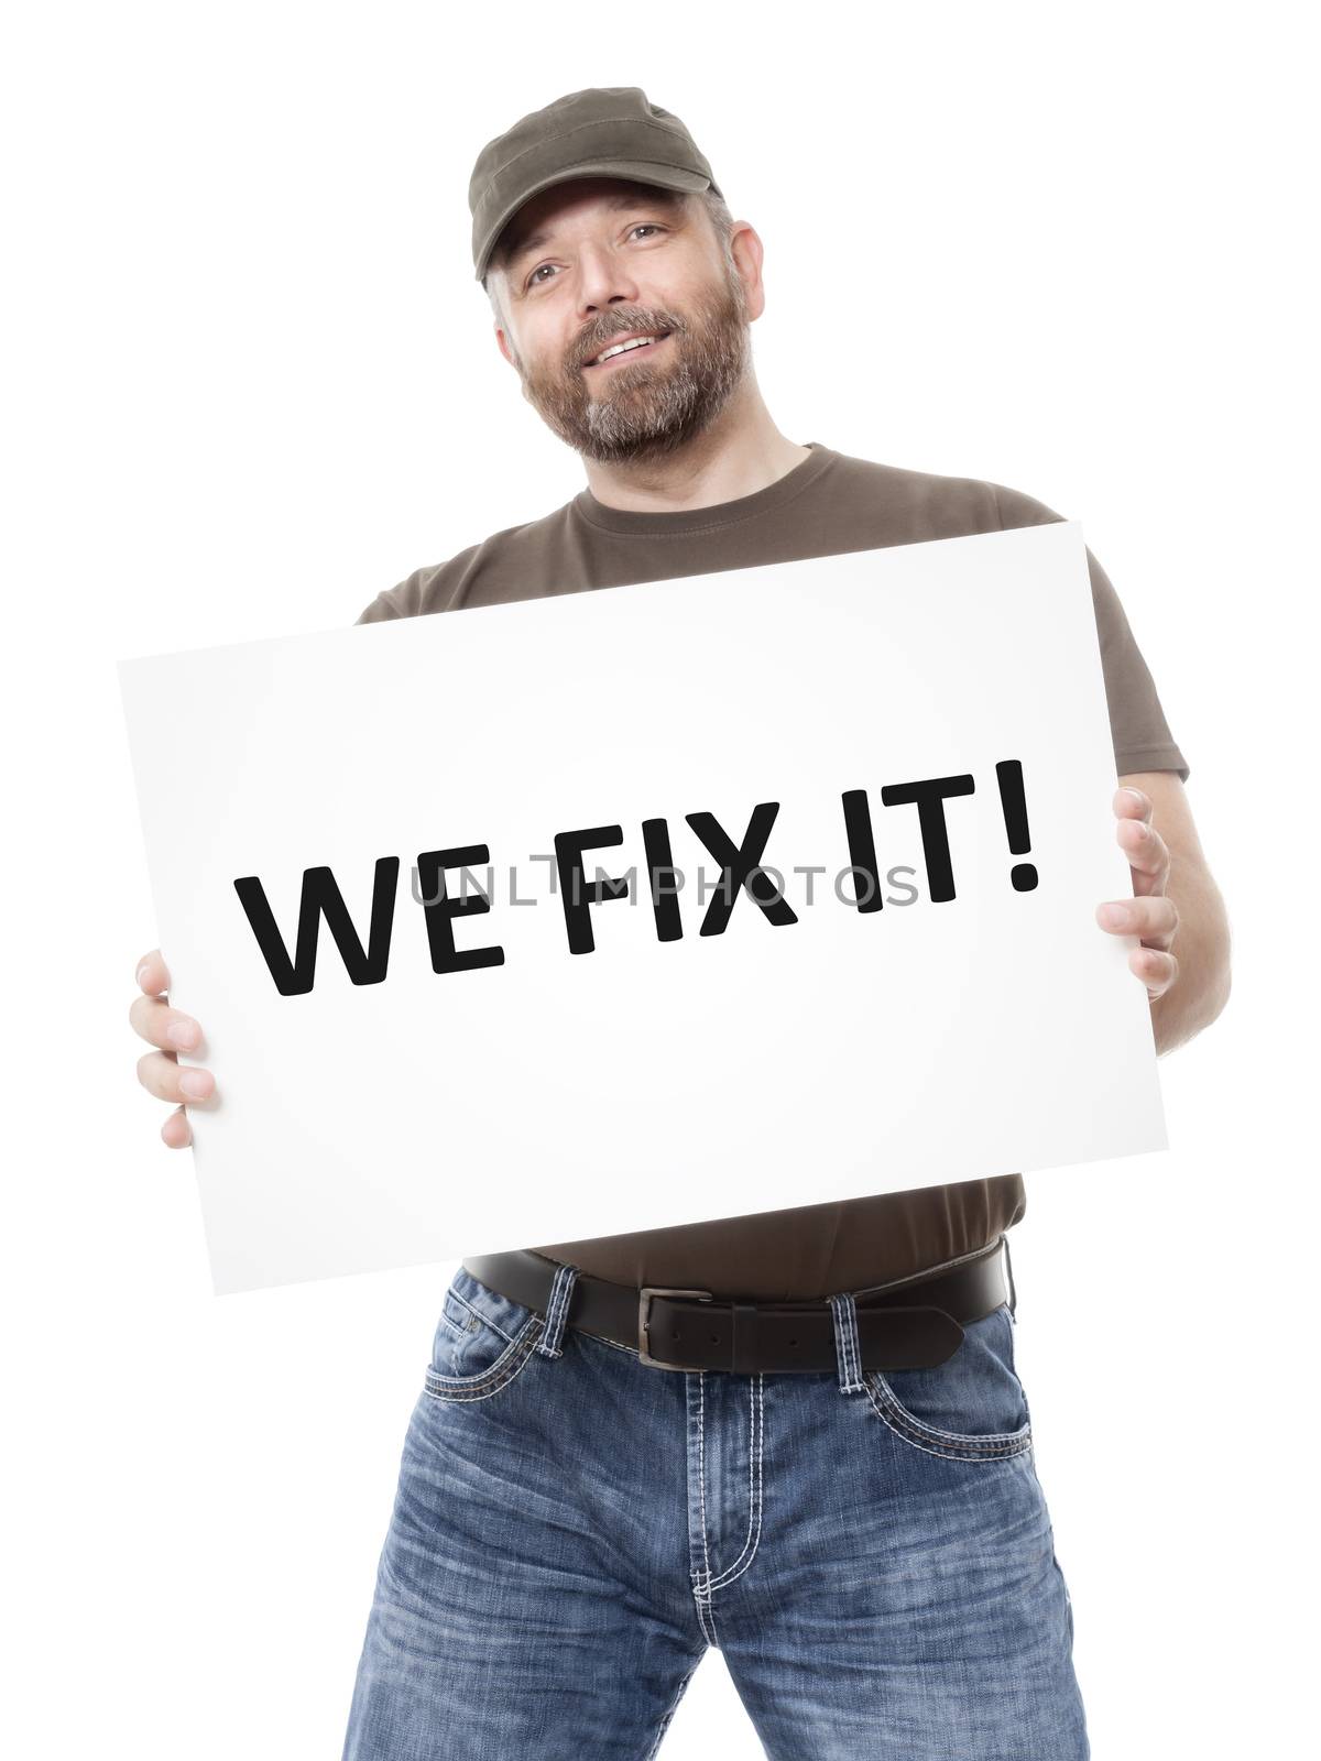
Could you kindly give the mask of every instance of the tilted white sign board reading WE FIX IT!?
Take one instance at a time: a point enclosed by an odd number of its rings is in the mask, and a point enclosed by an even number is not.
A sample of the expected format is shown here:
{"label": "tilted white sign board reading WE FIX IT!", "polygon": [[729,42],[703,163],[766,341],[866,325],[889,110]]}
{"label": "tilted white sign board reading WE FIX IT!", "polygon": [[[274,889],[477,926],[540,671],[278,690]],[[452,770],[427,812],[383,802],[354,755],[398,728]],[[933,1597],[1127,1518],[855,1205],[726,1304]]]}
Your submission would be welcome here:
{"label": "tilted white sign board reading WE FIX IT!", "polygon": [[218,1293],[1166,1146],[1076,521],[120,676]]}

